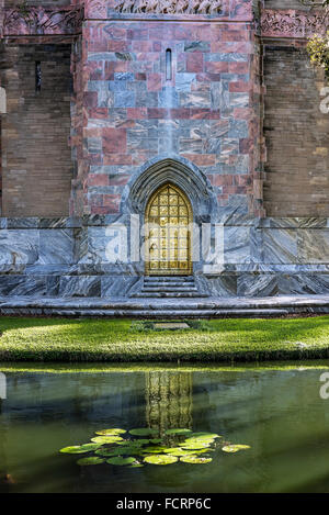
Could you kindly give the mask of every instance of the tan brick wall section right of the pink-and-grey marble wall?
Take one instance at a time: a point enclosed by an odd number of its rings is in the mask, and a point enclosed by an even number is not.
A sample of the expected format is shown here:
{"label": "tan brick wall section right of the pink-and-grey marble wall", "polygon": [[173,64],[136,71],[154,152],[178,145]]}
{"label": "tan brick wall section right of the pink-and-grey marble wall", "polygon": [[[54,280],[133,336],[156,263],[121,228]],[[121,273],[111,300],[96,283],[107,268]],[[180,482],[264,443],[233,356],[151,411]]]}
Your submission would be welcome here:
{"label": "tan brick wall section right of the pink-and-grey marble wall", "polygon": [[329,215],[329,115],[306,52],[266,47],[264,206],[269,216]]}

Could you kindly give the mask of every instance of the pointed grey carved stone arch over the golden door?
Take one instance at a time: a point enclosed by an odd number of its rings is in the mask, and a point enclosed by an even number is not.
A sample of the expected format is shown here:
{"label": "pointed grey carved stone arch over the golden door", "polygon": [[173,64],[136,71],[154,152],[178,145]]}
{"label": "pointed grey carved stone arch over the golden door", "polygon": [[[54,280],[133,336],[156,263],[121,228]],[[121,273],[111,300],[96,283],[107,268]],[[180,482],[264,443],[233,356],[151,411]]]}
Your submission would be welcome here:
{"label": "pointed grey carved stone arch over the golden door", "polygon": [[144,214],[150,195],[169,182],[186,194],[196,223],[211,222],[217,200],[208,179],[195,165],[177,156],[152,159],[134,173],[123,192],[123,211]]}

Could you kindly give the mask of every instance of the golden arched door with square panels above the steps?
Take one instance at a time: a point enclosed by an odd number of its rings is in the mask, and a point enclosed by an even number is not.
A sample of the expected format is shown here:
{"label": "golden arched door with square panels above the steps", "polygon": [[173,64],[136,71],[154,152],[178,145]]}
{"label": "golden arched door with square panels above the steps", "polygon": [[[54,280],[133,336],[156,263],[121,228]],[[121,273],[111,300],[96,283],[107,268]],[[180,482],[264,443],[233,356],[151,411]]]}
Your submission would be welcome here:
{"label": "golden arched door with square panels above the steps", "polygon": [[192,273],[192,209],[186,195],[173,184],[161,186],[146,208],[146,273]]}

